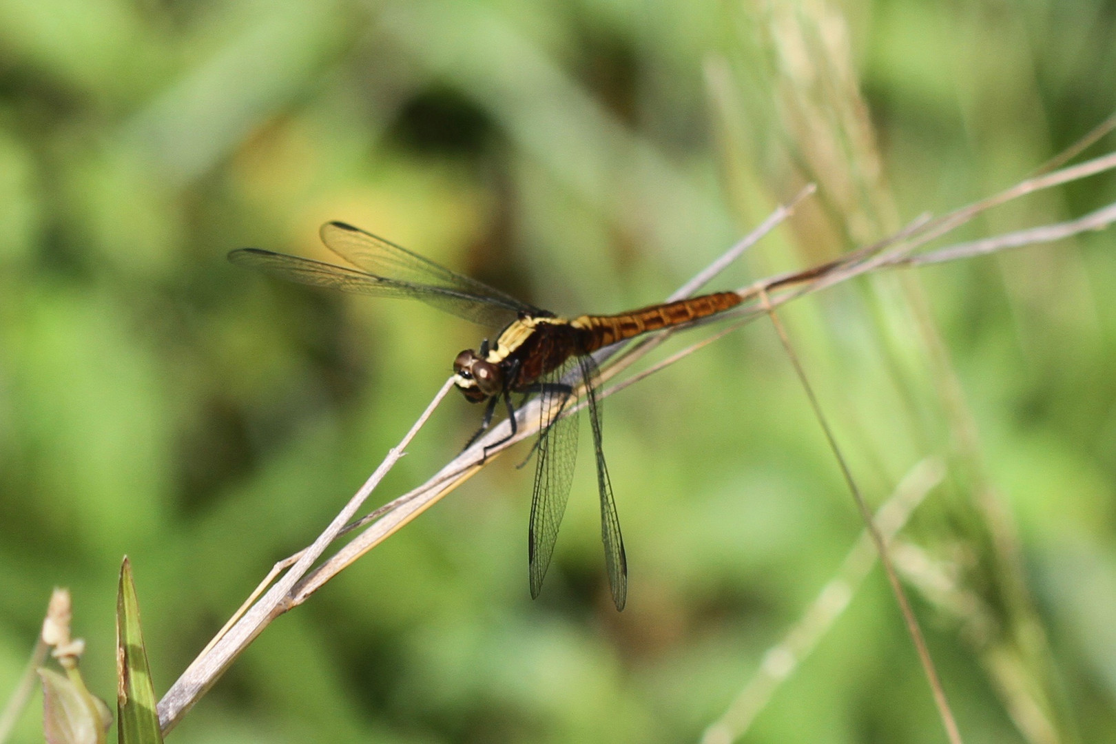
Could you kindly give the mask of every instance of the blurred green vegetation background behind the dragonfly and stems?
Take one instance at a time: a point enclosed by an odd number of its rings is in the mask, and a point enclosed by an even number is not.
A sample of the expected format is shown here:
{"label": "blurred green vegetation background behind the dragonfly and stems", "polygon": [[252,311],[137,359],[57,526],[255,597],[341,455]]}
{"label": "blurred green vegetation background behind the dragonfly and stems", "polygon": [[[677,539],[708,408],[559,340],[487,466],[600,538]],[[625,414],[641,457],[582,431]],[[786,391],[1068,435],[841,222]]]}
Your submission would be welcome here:
{"label": "blurred green vegetation background behind the dragonfly and stems", "polygon": [[[1105,0],[0,0],[0,698],[66,586],[112,699],[125,553],[165,690],[482,336],[230,249],[328,258],[344,220],[613,312],[816,181],[735,287],[1024,177],[1116,108],[1114,26]],[[1100,176],[961,236],[1114,195]],[[945,463],[897,561],[970,742],[1116,731],[1113,235],[786,310],[873,504]],[[863,524],[768,322],[606,408],[623,613],[583,432],[539,600],[513,453],[271,626],[173,741],[698,741]],[[372,503],[479,415],[450,398]],[[878,568],[744,741],[944,741]]]}

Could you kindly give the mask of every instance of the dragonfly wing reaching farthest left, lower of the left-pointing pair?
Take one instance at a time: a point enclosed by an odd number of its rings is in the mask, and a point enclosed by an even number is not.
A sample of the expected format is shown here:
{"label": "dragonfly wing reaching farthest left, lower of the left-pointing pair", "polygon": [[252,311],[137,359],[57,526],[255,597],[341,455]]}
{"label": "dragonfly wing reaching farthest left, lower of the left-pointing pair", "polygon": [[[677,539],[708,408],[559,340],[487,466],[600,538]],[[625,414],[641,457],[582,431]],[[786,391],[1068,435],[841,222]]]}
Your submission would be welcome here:
{"label": "dragonfly wing reaching farthest left, lower of the left-pointing pair", "polygon": [[275,253],[258,248],[241,248],[229,253],[229,260],[287,281],[311,287],[328,287],[344,292],[421,300],[439,310],[464,318],[480,326],[501,328],[518,315],[518,310],[488,297],[469,294],[452,287],[422,284],[372,274],[359,269],[339,267],[325,261]]}

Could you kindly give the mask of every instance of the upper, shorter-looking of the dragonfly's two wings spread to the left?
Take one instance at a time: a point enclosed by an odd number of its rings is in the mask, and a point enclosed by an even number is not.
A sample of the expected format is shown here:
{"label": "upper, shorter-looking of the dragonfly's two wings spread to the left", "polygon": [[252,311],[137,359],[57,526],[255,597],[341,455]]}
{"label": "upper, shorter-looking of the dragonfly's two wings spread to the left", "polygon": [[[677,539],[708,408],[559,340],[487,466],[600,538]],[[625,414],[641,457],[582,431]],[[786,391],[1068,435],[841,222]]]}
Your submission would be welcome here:
{"label": "upper, shorter-looking of the dragonfly's two wings spread to the left", "polygon": [[[521,312],[537,316],[540,312],[538,308],[521,302],[510,294],[504,294],[484,282],[450,271],[402,245],[396,245],[344,222],[327,222],[321,225],[319,234],[326,248],[373,276],[442,290],[440,292],[442,297],[480,300],[503,308],[512,316]],[[435,294],[439,293],[431,297]],[[442,310],[446,309],[443,306],[437,307]]]}

